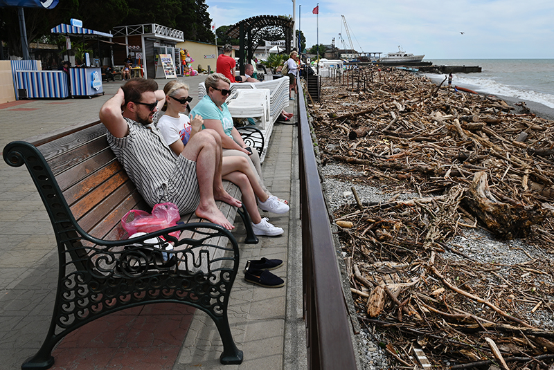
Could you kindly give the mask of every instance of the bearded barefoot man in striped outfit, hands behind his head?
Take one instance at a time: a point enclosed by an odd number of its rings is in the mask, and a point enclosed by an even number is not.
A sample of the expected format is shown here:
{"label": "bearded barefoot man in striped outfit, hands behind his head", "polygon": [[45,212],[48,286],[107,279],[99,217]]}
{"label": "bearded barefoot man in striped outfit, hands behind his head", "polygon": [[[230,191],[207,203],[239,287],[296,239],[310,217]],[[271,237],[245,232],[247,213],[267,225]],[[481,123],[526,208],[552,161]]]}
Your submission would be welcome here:
{"label": "bearded barefoot man in striped outfit, hands behind his head", "polygon": [[[100,109],[107,140],[144,200],[154,206],[171,202],[181,214],[197,216],[233,229],[215,201],[240,207],[221,181],[221,139],[202,130],[177,156],[152,124],[165,94],[154,80],[134,78],[125,83]],[[123,110],[123,113],[122,113]]]}

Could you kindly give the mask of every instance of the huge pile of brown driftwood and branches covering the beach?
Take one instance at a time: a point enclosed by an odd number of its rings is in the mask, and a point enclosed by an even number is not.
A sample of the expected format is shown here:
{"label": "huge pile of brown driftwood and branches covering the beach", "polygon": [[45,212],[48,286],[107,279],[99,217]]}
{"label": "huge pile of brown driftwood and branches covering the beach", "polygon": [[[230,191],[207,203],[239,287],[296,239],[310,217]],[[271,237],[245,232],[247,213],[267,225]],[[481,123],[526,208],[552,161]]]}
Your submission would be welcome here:
{"label": "huge pile of brown driftwood and branches covering the beach", "polygon": [[554,252],[554,121],[395,68],[325,80],[309,107],[322,164],[391,194],[361,203],[352,187],[334,210],[359,319],[391,365],[554,369],[554,261],[479,263],[448,243],[484,228]]}

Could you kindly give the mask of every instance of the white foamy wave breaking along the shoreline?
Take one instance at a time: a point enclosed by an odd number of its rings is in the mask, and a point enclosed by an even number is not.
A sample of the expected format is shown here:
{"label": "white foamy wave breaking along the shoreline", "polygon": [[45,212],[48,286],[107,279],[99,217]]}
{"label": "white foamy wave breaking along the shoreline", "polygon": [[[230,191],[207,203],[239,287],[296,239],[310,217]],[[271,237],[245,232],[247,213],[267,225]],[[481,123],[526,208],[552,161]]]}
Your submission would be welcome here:
{"label": "white foamy wave breaking along the shoreline", "polygon": [[[436,80],[438,75],[425,74],[431,80]],[[442,79],[441,79],[442,81]],[[510,98],[529,100],[554,108],[554,95],[548,93],[539,93],[528,88],[528,86],[511,86],[501,84],[488,77],[465,77],[461,75],[454,76],[454,85],[460,85],[477,91],[478,93],[487,93],[492,95],[503,95]]]}

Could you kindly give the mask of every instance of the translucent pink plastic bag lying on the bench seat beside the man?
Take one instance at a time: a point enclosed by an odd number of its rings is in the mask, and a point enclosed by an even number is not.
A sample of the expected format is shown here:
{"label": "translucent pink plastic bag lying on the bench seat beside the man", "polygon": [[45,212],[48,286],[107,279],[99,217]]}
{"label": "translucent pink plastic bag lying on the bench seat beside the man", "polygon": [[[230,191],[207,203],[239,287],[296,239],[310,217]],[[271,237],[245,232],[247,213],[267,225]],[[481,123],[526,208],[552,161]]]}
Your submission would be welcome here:
{"label": "translucent pink plastic bag lying on the bench seat beside the man", "polygon": [[[130,210],[121,219],[121,224],[127,232],[132,235],[136,232],[154,232],[171,226],[177,225],[179,216],[179,209],[177,205],[173,203],[161,203],[154,205],[152,208],[152,214],[140,211]],[[172,232],[172,237],[179,237],[180,232]]]}

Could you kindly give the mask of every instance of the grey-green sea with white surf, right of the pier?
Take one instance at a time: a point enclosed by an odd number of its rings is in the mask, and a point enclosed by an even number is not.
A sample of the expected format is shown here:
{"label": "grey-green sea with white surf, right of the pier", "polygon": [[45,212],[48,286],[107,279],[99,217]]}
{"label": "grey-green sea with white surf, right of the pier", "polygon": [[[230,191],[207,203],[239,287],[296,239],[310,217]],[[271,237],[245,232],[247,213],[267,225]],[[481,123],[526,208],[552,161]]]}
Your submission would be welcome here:
{"label": "grey-green sea with white surf, right of the pier", "polygon": [[[452,85],[478,93],[529,100],[554,109],[554,59],[424,60],[436,66],[480,66],[481,73],[454,73]],[[425,75],[435,81],[438,77]]]}

